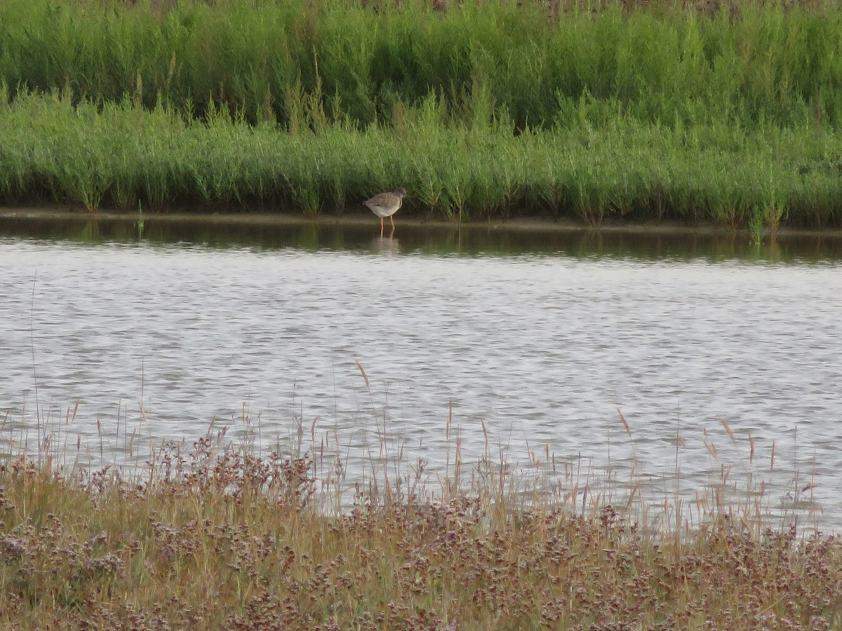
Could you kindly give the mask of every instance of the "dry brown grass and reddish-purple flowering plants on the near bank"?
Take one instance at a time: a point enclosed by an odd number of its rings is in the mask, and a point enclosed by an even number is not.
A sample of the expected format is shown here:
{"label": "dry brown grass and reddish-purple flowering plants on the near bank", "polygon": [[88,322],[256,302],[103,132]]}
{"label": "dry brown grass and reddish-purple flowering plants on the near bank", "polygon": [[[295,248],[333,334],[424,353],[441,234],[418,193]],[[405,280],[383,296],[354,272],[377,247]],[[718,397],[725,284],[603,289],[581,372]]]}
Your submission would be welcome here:
{"label": "dry brown grass and reddish-purple flowering plants on the near bank", "polygon": [[[610,504],[510,491],[331,495],[308,454],[209,438],[142,475],[0,466],[8,628],[839,628],[842,542],[727,506],[656,530]],[[499,469],[497,469],[499,470]],[[483,474],[484,471],[484,474]],[[381,480],[386,481],[386,480]],[[677,528],[677,527],[676,527]]]}

